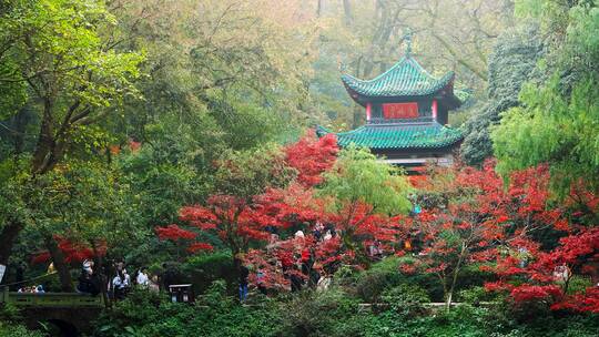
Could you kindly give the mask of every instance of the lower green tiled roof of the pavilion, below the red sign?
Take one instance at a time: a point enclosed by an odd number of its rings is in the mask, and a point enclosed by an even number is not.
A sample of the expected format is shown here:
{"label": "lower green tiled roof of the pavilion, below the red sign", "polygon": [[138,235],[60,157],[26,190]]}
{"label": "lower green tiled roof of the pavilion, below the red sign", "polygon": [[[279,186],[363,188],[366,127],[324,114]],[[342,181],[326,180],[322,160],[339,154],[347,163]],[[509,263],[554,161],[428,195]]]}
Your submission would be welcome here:
{"label": "lower green tiled roof of the pavilion, below the red sign", "polygon": [[[322,136],[331,133],[318,126]],[[355,144],[368,149],[440,149],[461,141],[461,132],[439,123],[366,124],[356,130],[336,133],[337,143],[344,147]]]}

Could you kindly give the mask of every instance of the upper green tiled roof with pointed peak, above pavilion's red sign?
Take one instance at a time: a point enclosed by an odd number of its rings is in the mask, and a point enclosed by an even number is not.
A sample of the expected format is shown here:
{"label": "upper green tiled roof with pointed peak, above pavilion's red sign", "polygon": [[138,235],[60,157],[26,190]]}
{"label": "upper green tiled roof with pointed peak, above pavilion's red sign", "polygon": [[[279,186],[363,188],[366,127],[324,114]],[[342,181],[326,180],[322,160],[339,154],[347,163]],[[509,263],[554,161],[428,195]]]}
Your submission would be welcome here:
{"label": "upper green tiled roof with pointed peak, above pavilion's red sign", "polygon": [[389,70],[369,81],[348,74],[342,75],[342,81],[348,89],[365,96],[428,95],[443,89],[453,80],[454,72],[435,79],[409,55],[402,58]]}

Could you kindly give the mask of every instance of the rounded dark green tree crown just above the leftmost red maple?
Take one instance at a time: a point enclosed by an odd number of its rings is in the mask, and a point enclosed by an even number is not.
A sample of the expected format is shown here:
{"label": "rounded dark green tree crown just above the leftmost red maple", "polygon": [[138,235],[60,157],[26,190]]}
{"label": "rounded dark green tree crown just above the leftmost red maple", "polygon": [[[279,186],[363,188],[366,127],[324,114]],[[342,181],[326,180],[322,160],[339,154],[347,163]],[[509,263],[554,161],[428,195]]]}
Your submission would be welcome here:
{"label": "rounded dark green tree crown just above the leftmost red maple", "polygon": [[113,162],[140,203],[141,221],[153,228],[174,222],[181,206],[203,201],[213,190],[214,168],[189,129],[176,133],[166,121],[145,129],[151,141],[138,151],[125,146]]}

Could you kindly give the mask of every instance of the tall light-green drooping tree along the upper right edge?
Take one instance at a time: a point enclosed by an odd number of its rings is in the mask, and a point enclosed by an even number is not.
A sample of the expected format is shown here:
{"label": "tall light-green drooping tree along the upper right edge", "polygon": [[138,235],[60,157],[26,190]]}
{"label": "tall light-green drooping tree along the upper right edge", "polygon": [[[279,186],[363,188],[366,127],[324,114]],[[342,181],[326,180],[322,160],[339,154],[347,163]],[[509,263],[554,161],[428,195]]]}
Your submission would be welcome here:
{"label": "tall light-green drooping tree along the upper right edge", "polygon": [[522,106],[505,113],[494,129],[498,170],[507,173],[548,163],[558,190],[567,191],[581,180],[597,191],[599,8],[592,1],[537,0],[520,6],[525,14],[539,14],[547,30],[550,51],[540,65],[552,76],[526,85]]}

